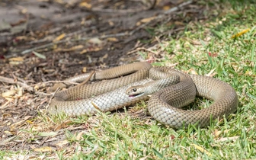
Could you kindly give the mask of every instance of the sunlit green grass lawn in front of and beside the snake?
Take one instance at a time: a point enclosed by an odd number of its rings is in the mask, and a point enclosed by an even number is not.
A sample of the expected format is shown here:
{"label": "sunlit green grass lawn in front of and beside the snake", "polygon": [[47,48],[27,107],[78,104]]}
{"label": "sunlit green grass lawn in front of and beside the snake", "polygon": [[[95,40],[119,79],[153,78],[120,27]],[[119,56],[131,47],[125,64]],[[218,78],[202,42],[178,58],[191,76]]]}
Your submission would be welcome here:
{"label": "sunlit green grass lawn in front of and beside the snake", "polygon": [[[213,4],[214,5],[214,4]],[[102,114],[94,117],[55,117],[56,126],[70,120],[72,126],[84,130],[64,130],[66,139],[57,144],[55,152],[43,149],[40,156],[72,159],[254,159],[256,158],[256,18],[255,5],[236,1],[222,2],[226,8],[219,16],[203,23],[187,25],[178,39],[169,37],[166,59],[157,65],[178,62],[177,69],[199,75],[212,73],[235,88],[239,98],[238,111],[210,126],[200,129],[173,130],[155,120],[141,120],[125,114]],[[230,7],[230,8],[229,8]],[[208,13],[205,13],[208,14]],[[242,30],[239,37],[231,38]],[[174,55],[173,59],[169,59]],[[198,101],[201,101],[200,99]],[[208,101],[201,101],[204,106]],[[138,104],[136,109],[145,108]],[[33,136],[39,135],[28,130]],[[0,152],[0,158],[11,153]],[[14,153],[15,154],[15,153]],[[29,153],[20,153],[27,155]]]}

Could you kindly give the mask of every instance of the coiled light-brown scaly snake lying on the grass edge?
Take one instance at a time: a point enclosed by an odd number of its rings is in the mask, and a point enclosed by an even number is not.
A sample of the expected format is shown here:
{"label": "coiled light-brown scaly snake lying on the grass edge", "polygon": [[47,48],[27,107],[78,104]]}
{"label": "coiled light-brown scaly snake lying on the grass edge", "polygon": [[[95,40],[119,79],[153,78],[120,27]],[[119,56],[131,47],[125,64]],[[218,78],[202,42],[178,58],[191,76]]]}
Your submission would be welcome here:
{"label": "coiled light-brown scaly snake lying on the grass edge", "polygon": [[[91,84],[58,91],[50,102],[50,114],[92,115],[148,101],[149,114],[174,129],[189,125],[204,127],[211,120],[229,116],[238,107],[238,95],[226,82],[204,75],[189,75],[166,66],[135,62],[69,78],[89,79]],[[104,81],[99,81],[106,79]],[[96,82],[95,82],[96,81]],[[184,110],[195,97],[213,100],[209,107]]]}

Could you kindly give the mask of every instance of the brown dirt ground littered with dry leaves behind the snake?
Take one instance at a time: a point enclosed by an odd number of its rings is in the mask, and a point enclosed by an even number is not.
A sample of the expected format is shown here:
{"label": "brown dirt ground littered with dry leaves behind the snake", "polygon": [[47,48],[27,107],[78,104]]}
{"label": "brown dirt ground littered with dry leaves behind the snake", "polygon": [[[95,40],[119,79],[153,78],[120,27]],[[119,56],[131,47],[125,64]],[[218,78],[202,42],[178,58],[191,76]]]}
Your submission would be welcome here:
{"label": "brown dirt ground littered with dry leaves behind the snake", "polygon": [[1,1],[0,149],[33,148],[19,130],[45,110],[47,82],[162,59],[159,43],[206,19],[206,9],[183,0]]}

